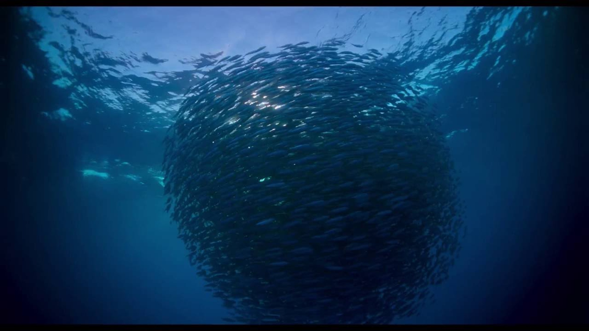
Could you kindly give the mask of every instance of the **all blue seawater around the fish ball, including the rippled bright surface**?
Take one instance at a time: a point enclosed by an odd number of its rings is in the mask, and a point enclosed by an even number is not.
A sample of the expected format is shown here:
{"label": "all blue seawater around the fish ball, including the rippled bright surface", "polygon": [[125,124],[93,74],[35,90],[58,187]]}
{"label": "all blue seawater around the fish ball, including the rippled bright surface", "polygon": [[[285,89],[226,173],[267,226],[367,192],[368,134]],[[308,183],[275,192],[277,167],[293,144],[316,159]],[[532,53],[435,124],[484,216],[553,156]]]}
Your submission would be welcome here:
{"label": "all blue seawater around the fish ball, including the rippled bright surface", "polygon": [[461,255],[392,322],[589,322],[587,9],[1,12],[2,322],[225,323],[164,211],[162,140],[201,54],[330,38],[398,52],[461,178]]}

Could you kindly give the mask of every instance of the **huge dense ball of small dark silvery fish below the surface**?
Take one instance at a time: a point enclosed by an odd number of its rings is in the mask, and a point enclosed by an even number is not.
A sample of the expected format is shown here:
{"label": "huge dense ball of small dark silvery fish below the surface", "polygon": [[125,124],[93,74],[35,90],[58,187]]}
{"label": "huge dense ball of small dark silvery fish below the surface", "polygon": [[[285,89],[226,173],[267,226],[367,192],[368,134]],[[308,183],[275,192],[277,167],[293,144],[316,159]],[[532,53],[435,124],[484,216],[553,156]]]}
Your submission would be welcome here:
{"label": "huge dense ball of small dark silvery fish below the surface", "polygon": [[445,134],[395,54],[308,44],[203,54],[164,140],[166,210],[227,322],[415,315],[464,228]]}

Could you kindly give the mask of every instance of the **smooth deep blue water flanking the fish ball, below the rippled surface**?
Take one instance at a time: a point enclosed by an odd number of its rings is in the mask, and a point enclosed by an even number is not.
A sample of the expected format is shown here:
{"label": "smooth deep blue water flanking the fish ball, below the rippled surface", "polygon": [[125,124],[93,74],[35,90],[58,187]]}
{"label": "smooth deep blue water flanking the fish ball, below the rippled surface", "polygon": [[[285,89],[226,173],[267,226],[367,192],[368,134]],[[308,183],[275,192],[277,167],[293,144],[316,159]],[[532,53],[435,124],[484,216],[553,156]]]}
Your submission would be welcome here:
{"label": "smooth deep blue water flanking the fish ball, below the rippled surface", "polygon": [[[89,148],[159,164],[163,133],[98,141],[92,131],[39,121],[65,95],[49,74],[22,75],[22,59],[39,67],[47,59],[27,38],[34,23],[1,12],[0,300],[8,308],[0,320],[222,323],[225,310],[204,292],[153,194],[161,187],[75,176]],[[399,322],[589,322],[586,22],[587,9],[561,8],[531,45],[509,49],[516,65],[487,80],[492,62],[482,63],[440,92],[448,123],[469,128],[450,141],[468,235],[437,302]],[[478,109],[460,108],[468,97]]]}

